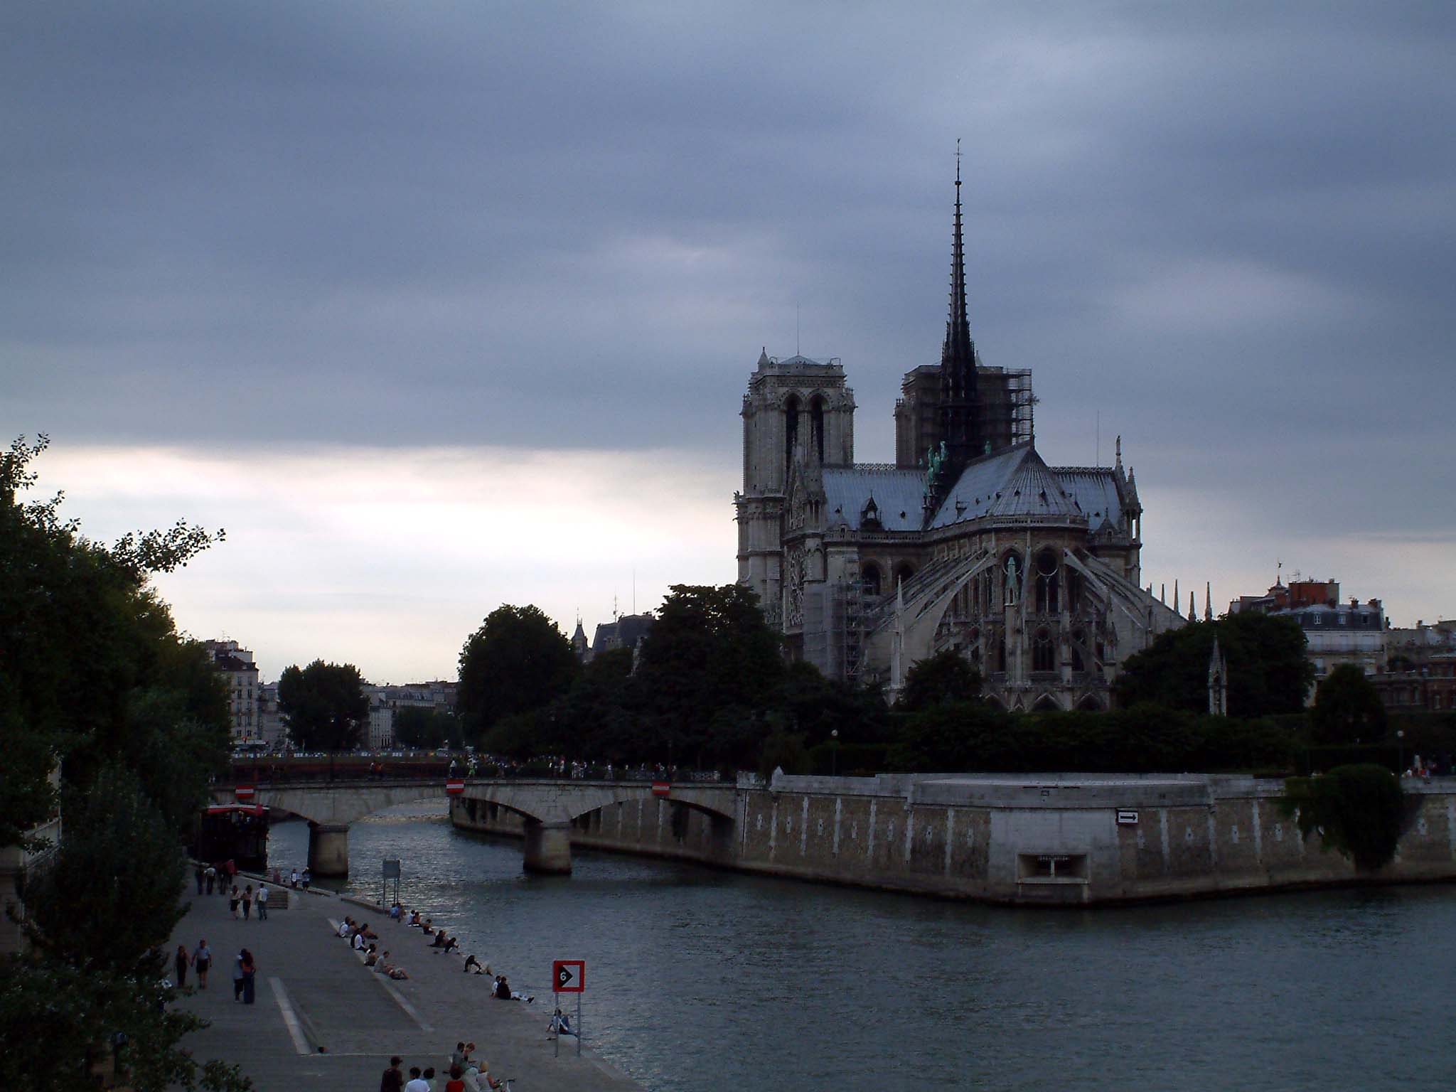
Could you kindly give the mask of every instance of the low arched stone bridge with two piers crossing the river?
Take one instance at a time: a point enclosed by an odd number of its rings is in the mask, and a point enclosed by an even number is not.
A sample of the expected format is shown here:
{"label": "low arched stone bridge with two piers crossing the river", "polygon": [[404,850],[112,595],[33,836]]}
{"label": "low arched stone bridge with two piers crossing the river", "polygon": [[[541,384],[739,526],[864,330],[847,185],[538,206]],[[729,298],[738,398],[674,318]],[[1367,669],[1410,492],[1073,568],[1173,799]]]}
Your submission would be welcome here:
{"label": "low arched stone bridge with two piers crossing the river", "polygon": [[[527,872],[571,872],[571,821],[610,804],[632,802],[662,795],[662,782],[620,780],[466,780],[463,796],[495,804],[524,820],[524,860]],[[333,780],[333,782],[259,782],[253,804],[291,811],[309,820],[309,869],[320,877],[342,877],[349,871],[349,824],[396,804],[412,804],[446,795],[440,780]],[[665,785],[668,799],[708,812],[715,837],[732,837],[737,812],[734,785],[709,782],[673,782]],[[218,804],[232,804],[232,788],[213,794]]]}

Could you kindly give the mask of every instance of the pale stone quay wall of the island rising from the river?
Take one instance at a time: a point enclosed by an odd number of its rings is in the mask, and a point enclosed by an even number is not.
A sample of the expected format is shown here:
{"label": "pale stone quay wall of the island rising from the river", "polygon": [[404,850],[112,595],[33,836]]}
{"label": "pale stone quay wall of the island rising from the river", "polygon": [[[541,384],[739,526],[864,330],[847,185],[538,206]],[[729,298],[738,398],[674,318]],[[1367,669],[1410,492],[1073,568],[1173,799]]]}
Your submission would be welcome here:
{"label": "pale stone quay wall of the island rising from the river", "polygon": [[[1456,879],[1456,779],[1405,782],[1395,859],[1358,872],[1239,776],[881,775],[743,785],[731,823],[671,798],[572,821],[571,843],[858,887],[1015,904],[1095,904],[1357,882]],[[520,815],[451,801],[457,827]]]}

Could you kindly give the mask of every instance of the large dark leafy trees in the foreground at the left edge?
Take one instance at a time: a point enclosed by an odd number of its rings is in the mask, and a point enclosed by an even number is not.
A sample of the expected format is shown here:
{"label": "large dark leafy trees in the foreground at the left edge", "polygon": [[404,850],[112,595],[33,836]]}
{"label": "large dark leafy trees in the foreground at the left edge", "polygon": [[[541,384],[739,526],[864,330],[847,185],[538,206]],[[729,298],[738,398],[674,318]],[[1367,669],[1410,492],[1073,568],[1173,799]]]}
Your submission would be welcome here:
{"label": "large dark leafy trees in the foreground at the left edge", "polygon": [[162,986],[186,910],[181,844],[227,756],[227,696],[149,578],[223,536],[178,523],[87,540],[61,495],[25,496],[45,447],[0,453],[0,844],[44,849],[28,831],[57,808],[66,837],[23,893],[0,891],[7,913],[23,895],[31,942],[0,958],[0,1088],[89,1085],[121,1034],[138,1089],[245,1089],[236,1067],[179,1048],[202,1022],[167,1010]]}

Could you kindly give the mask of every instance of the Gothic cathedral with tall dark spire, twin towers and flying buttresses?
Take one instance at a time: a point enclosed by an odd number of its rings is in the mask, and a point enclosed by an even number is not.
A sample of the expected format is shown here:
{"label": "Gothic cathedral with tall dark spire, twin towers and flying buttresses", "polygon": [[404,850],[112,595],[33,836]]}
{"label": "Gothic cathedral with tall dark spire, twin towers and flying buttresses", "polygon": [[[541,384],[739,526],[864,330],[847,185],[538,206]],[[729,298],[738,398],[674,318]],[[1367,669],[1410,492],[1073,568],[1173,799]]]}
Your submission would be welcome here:
{"label": "Gothic cathedral with tall dark spire, twin towers and flying buttresses", "polygon": [[791,657],[891,697],[957,649],[1006,709],[1105,709],[1118,665],[1182,625],[1140,587],[1143,508],[1112,467],[1047,466],[1031,373],[986,367],[965,310],[955,181],[941,364],[906,373],[895,462],[855,462],[839,360],[763,352],[743,399],[738,581]]}

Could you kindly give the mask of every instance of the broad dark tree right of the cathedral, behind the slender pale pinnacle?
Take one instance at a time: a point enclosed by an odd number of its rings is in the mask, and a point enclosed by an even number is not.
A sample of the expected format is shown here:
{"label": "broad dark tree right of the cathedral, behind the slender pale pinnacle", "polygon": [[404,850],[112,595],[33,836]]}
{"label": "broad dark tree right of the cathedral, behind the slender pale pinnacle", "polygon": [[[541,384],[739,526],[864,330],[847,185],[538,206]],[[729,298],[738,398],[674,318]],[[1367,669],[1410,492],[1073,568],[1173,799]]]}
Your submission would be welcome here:
{"label": "broad dark tree right of the cathedral, behind the slender pale pinnacle", "polygon": [[1191,622],[1130,655],[1117,677],[1118,705],[1208,711],[1208,658],[1214,638],[1229,662],[1229,715],[1299,713],[1315,681],[1305,633],[1290,619],[1254,612]]}

